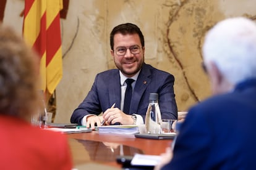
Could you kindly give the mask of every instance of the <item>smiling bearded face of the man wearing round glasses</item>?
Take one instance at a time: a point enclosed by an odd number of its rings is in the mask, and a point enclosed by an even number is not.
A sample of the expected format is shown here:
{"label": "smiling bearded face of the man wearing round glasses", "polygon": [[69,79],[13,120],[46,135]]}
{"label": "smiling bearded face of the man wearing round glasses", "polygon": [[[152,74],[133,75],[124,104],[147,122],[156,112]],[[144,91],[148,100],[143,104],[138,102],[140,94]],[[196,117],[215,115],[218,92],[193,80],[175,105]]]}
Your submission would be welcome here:
{"label": "smiling bearded face of the man wearing round glasses", "polygon": [[[129,49],[136,45],[140,47],[140,52],[139,54],[132,54]],[[126,54],[117,55],[117,47],[126,47]],[[114,58],[116,67],[121,70],[125,76],[132,77],[142,68],[144,52],[145,47],[142,47],[139,34],[114,34],[114,51],[111,50],[111,55]]]}

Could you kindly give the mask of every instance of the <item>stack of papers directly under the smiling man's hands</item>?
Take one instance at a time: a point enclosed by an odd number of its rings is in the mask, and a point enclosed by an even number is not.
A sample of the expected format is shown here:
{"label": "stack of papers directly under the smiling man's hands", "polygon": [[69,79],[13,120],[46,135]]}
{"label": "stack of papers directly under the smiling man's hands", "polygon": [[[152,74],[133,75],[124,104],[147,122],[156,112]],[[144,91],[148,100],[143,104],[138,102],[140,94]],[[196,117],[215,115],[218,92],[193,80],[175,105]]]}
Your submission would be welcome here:
{"label": "stack of papers directly under the smiling man's hands", "polygon": [[139,133],[137,125],[109,125],[98,127],[99,133],[113,133],[113,134],[136,134]]}

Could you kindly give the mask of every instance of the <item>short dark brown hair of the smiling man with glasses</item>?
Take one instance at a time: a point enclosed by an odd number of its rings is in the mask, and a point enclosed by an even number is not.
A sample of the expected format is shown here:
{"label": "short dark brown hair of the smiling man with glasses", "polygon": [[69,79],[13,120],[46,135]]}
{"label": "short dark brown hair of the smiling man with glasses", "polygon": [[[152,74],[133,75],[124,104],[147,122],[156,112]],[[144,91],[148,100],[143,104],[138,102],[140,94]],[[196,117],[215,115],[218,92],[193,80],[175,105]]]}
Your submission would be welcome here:
{"label": "short dark brown hair of the smiling man with glasses", "polygon": [[144,47],[144,36],[142,34],[142,31],[140,31],[140,28],[132,23],[122,23],[120,25],[115,26],[110,33],[110,47],[112,50],[114,50],[114,35],[117,33],[121,33],[123,35],[139,34],[140,42],[142,44],[142,47]]}

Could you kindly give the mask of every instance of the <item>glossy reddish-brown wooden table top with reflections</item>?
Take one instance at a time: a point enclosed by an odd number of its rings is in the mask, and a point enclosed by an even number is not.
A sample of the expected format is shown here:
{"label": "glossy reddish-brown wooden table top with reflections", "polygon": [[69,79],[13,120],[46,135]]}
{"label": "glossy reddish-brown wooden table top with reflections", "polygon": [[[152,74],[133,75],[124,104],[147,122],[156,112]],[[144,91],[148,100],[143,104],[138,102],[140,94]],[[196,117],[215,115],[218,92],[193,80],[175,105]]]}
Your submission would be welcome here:
{"label": "glossy reddish-brown wooden table top with reflections", "polygon": [[135,153],[160,155],[173,140],[140,139],[127,134],[99,134],[97,131],[67,134],[74,166],[96,163],[116,168],[119,155],[133,156]]}

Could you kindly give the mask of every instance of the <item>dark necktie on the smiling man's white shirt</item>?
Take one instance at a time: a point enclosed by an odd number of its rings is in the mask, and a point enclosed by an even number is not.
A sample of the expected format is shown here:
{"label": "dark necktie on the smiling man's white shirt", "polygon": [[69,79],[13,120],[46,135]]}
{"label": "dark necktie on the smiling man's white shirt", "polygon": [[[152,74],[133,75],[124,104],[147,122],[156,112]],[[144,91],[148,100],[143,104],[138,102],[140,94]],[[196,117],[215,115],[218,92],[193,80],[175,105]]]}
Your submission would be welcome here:
{"label": "dark necktie on the smiling man's white shirt", "polygon": [[127,78],[126,79],[126,95],[124,96],[124,113],[129,115],[130,111],[130,99],[132,99],[132,82],[134,82],[134,79]]}

